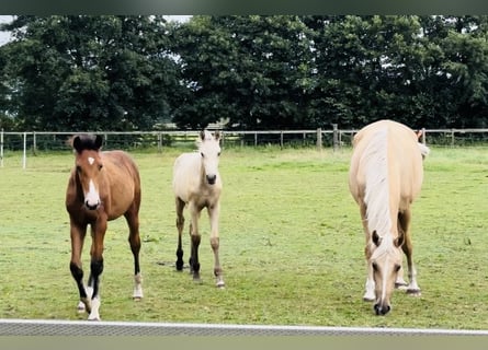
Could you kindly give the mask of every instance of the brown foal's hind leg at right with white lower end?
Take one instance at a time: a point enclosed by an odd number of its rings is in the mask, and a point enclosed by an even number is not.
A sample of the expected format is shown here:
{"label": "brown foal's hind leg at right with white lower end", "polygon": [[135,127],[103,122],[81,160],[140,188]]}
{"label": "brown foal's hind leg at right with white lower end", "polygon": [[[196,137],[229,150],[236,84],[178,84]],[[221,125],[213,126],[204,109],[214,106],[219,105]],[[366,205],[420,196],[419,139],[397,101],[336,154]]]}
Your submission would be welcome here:
{"label": "brown foal's hind leg at right with white lower end", "polygon": [[129,234],[128,243],[134,256],[134,293],[133,299],[139,301],[144,298],[143,293],[143,275],[140,273],[139,252],[140,252],[140,235],[139,235],[139,218],[138,210],[133,208],[125,213]]}

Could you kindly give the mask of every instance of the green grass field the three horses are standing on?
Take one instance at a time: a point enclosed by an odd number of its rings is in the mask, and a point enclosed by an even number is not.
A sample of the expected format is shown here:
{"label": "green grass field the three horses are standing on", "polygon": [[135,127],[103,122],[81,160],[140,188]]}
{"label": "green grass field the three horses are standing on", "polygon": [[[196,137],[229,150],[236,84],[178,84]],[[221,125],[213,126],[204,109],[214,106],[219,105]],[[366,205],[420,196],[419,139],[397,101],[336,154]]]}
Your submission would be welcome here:
{"label": "green grass field the three horses are standing on", "polygon": [[[364,237],[348,189],[351,150],[223,151],[224,290],[214,287],[206,213],[201,224],[203,283],[193,283],[188,270],[174,270],[170,184],[180,151],[132,153],[144,186],[145,299],[130,298],[127,229],[124,219],[112,221],[101,284],[103,320],[487,329],[486,148],[433,149],[425,160],[412,219],[422,295],[396,291],[385,317],[362,301]],[[0,318],[86,319],[76,312],[64,207],[72,154],[30,156],[26,170],[19,154],[7,155],[0,168]],[[87,240],[86,276],[89,245]]]}

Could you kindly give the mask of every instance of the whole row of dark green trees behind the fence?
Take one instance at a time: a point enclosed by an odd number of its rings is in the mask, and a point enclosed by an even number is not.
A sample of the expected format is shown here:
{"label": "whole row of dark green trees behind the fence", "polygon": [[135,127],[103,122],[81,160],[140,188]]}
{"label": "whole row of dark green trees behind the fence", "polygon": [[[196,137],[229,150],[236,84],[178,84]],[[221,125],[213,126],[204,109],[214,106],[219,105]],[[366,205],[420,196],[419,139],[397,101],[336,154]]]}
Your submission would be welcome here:
{"label": "whole row of dark green trees behind the fence", "polygon": [[0,128],[488,127],[486,15],[18,15]]}

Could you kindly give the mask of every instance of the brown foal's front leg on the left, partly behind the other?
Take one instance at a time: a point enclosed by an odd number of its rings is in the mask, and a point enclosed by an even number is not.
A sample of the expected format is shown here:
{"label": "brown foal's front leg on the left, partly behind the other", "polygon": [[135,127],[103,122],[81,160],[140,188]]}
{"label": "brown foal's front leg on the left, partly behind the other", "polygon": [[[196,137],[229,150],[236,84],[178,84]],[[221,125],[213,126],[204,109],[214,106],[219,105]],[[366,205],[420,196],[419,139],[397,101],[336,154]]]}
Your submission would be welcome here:
{"label": "brown foal's front leg on the left, partly behind the other", "polygon": [[86,234],[87,225],[78,226],[71,222],[71,260],[69,262],[69,269],[80,294],[80,302],[78,303],[79,312],[90,312],[91,310],[90,299],[83,285],[83,269],[81,268],[81,250],[83,248]]}

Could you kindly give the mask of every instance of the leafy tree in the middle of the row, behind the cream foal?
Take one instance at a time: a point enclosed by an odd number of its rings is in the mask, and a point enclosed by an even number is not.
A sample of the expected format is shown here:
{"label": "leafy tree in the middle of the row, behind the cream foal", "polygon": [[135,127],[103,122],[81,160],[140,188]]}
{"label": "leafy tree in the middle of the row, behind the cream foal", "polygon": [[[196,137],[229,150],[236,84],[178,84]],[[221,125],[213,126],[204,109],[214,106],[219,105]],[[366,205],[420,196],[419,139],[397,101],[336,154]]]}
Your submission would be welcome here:
{"label": "leafy tree in the middle of the row, behind the cream foal", "polygon": [[191,93],[175,113],[180,127],[228,120],[243,129],[307,124],[311,59],[308,30],[297,16],[194,16],[174,32]]}

